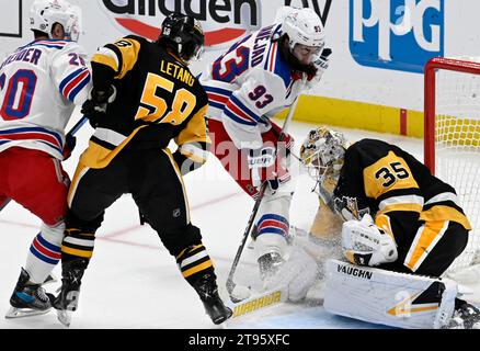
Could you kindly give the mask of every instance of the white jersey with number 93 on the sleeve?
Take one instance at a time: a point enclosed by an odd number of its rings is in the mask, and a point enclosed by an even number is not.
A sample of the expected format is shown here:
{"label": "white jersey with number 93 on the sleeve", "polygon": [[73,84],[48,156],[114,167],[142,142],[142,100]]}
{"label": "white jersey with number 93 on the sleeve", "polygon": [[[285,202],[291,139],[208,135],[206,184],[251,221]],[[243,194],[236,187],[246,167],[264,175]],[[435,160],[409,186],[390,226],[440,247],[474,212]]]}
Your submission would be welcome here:
{"label": "white jersey with number 93 on the sleeve", "polygon": [[282,57],[281,24],[236,43],[201,76],[208,94],[208,117],[221,121],[237,148],[259,148],[268,118],[289,106],[305,89]]}

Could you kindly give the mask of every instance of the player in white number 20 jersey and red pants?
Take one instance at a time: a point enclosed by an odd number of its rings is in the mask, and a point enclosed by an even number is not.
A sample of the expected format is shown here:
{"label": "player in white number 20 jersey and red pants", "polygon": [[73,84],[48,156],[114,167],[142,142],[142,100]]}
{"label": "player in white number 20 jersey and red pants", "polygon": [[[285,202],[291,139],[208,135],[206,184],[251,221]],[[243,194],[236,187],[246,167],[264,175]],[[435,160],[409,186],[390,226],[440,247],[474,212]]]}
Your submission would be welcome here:
{"label": "player in white number 20 jersey and red pants", "polygon": [[75,138],[65,127],[88,97],[87,54],[76,43],[80,9],[64,0],[36,0],[35,39],[0,65],[0,208],[10,199],[43,222],[21,269],[7,318],[52,307],[42,283],[60,259],[69,179],[60,161]]}

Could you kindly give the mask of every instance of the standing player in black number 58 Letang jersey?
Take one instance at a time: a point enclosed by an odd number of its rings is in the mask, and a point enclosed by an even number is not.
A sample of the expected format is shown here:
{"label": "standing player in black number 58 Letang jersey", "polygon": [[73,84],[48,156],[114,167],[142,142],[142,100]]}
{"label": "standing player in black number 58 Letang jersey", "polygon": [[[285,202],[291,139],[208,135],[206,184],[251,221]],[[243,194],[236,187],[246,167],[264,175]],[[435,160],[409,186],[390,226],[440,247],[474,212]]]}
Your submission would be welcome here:
{"label": "standing player in black number 58 Letang jersey", "polygon": [[[231,316],[218,295],[201,230],[191,223],[182,180],[206,161],[210,144],[207,95],[188,70],[188,60],[199,57],[203,45],[199,23],[172,13],[157,42],[129,35],[92,58],[93,89],[82,112],[95,132],[69,191],[62,285],[54,302],[65,325],[77,308],[104,212],[125,193],[176,259],[213,322]],[[175,152],[168,148],[172,139],[179,146]]]}

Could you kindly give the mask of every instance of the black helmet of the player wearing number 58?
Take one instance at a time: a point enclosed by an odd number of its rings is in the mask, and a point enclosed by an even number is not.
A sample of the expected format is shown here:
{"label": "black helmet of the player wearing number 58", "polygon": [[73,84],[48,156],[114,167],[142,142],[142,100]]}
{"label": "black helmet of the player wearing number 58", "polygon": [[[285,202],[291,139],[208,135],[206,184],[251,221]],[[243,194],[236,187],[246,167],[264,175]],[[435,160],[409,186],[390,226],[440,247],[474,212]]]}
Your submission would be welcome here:
{"label": "black helmet of the player wearing number 58", "polygon": [[197,20],[181,13],[171,13],[162,23],[159,43],[163,41],[173,46],[183,60],[188,61],[201,58],[205,37]]}

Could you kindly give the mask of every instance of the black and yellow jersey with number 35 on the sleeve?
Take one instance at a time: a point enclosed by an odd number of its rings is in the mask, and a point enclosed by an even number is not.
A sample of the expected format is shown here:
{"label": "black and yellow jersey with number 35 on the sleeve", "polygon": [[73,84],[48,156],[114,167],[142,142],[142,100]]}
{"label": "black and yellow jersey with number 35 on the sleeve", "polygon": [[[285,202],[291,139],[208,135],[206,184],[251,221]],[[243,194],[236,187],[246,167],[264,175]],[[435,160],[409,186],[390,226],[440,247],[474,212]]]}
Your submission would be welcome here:
{"label": "black and yellow jersey with number 35 on the sleeve", "polygon": [[416,213],[419,220],[454,220],[471,229],[453,186],[407,151],[377,139],[348,147],[334,195],[356,197],[377,218],[402,220]]}

